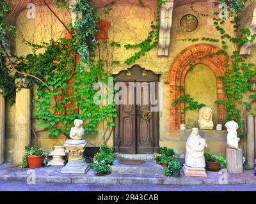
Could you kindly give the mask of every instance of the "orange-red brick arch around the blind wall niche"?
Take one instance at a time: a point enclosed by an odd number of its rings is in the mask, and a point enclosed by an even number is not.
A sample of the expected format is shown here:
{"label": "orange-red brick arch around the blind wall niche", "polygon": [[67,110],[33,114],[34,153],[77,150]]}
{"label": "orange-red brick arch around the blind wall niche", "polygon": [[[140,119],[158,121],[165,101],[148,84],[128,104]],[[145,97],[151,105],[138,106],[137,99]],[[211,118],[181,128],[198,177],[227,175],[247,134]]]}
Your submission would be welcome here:
{"label": "orange-red brick arch around the blind wall niche", "polygon": [[[220,48],[207,43],[200,43],[192,45],[175,57],[170,71],[168,74],[168,83],[170,84],[170,102],[180,96],[184,96],[184,92],[177,89],[178,86],[184,87],[185,77],[189,71],[189,64],[205,64],[214,73],[216,77],[217,86],[217,100],[225,99],[225,93],[223,91],[223,84],[220,77],[225,75],[227,69],[225,59],[227,56],[223,54],[212,55],[212,57],[205,57],[206,55],[216,53]],[[230,61],[229,61],[230,62]],[[170,107],[170,129],[180,129],[180,124],[185,123],[184,103],[178,105],[172,105]],[[221,123],[225,119],[225,105],[217,104],[218,123]]]}

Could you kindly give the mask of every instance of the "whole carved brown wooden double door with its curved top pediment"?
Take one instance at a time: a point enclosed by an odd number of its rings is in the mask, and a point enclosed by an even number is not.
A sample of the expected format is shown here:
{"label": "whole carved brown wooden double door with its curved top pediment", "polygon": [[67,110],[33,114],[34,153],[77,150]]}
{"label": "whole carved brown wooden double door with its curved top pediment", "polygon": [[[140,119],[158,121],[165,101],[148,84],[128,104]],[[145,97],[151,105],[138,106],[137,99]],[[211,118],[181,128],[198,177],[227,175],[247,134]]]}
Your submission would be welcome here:
{"label": "whole carved brown wooden double door with its curved top pediment", "polygon": [[124,154],[152,154],[159,149],[159,75],[138,65],[115,76],[122,84],[115,119],[114,149]]}

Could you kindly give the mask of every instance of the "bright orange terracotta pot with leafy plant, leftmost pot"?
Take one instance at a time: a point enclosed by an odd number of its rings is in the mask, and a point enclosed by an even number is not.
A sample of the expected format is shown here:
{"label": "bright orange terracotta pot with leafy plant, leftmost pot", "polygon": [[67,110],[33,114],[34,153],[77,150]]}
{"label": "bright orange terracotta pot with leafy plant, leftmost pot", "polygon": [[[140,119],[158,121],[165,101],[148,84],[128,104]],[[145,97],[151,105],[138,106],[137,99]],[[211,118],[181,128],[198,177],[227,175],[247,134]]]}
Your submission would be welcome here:
{"label": "bright orange terracotta pot with leafy plant, leftmost pot", "polygon": [[44,149],[35,149],[30,145],[25,147],[26,151],[22,155],[22,164],[20,168],[39,168],[44,163],[44,159],[47,158],[47,154]]}

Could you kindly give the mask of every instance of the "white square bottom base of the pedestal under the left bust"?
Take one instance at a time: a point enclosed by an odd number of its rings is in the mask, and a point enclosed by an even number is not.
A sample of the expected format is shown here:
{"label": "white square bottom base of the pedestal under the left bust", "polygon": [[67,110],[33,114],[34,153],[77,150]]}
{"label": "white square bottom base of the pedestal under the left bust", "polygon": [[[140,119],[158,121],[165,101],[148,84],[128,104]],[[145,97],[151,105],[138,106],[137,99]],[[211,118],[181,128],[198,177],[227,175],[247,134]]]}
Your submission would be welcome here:
{"label": "white square bottom base of the pedestal under the left bust", "polygon": [[87,173],[90,169],[90,164],[86,163],[85,159],[68,160],[66,166],[61,169],[61,173]]}

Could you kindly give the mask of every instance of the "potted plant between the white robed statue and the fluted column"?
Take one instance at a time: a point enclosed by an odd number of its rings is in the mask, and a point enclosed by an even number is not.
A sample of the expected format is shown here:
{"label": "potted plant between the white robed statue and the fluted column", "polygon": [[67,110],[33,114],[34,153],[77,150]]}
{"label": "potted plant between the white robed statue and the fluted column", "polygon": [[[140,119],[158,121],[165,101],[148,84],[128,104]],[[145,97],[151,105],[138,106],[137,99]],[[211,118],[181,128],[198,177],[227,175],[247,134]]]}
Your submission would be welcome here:
{"label": "potted plant between the white robed statue and the fluted column", "polygon": [[215,156],[209,151],[205,151],[204,153],[206,166],[211,171],[219,171],[220,168],[227,163],[227,160],[225,157],[223,157],[221,154],[218,154]]}

